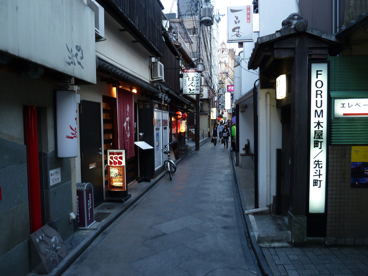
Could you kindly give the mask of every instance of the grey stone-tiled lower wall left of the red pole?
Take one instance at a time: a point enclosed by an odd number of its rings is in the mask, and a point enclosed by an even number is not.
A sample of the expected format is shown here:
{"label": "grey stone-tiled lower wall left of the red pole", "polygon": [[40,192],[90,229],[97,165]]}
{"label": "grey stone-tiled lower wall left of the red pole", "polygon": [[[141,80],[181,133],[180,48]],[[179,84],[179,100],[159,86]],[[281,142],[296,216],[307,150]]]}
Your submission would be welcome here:
{"label": "grey stone-tiled lower wall left of the red pole", "polygon": [[30,269],[26,146],[0,138],[0,156],[0,272],[26,275]]}

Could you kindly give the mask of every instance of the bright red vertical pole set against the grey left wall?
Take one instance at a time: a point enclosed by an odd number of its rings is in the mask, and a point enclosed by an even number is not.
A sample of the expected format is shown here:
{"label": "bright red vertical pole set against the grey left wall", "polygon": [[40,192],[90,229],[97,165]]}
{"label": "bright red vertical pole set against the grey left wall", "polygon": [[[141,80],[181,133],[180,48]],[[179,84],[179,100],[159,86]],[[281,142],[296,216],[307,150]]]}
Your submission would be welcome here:
{"label": "bright red vertical pole set against the grey left wall", "polygon": [[36,106],[24,107],[24,143],[27,146],[29,223],[33,233],[42,227]]}

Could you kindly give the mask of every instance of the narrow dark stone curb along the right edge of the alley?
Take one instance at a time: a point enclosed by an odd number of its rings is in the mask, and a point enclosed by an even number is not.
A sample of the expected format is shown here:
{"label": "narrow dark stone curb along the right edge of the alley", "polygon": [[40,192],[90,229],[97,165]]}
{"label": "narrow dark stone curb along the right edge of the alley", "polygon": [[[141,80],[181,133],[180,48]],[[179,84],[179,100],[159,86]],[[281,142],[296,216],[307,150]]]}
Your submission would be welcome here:
{"label": "narrow dark stone curb along the right edge of the alley", "polygon": [[[239,176],[238,176],[238,172],[237,172],[236,167],[235,167],[234,156],[231,152],[230,152],[230,155],[231,155],[231,164],[233,165],[233,173],[234,173],[234,178],[235,178],[235,184],[236,184],[236,187],[238,189],[238,193],[239,193],[239,197],[240,197],[240,204],[241,204],[241,208],[243,210],[243,217],[244,217],[244,220],[245,220],[245,225],[247,226],[246,231],[248,232],[247,234],[250,237],[253,252],[254,252],[255,257],[257,259],[259,268],[261,269],[262,275],[263,276],[273,276],[273,273],[272,273],[272,271],[271,271],[271,269],[270,269],[270,267],[269,267],[269,265],[266,261],[266,258],[265,258],[265,256],[263,256],[261,248],[259,247],[259,245],[257,243],[257,240],[256,240],[256,238],[253,234],[253,228],[252,228],[252,224],[251,224],[251,221],[249,219],[249,216],[244,214],[244,210],[247,210],[247,206],[245,205],[245,201],[244,201],[244,197],[243,197],[243,191],[241,189],[240,184],[238,183]],[[250,231],[250,229],[252,231]]]}

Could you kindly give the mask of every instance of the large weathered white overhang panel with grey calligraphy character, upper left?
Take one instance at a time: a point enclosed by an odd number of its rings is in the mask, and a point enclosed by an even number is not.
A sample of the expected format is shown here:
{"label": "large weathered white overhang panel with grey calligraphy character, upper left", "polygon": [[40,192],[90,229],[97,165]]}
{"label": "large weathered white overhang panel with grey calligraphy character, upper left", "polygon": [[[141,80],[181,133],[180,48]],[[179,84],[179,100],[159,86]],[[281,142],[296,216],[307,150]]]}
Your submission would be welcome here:
{"label": "large weathered white overhang panel with grey calligraphy character, upper left", "polygon": [[0,6],[1,51],[96,82],[95,16],[82,1],[2,0]]}

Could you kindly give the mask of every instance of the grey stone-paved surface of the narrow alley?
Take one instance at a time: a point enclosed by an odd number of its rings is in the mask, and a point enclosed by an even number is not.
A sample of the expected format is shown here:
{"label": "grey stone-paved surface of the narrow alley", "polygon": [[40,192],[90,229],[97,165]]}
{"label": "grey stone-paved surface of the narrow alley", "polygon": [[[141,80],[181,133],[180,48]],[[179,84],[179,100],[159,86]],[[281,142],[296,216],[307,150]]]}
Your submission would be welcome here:
{"label": "grey stone-paved surface of the narrow alley", "polygon": [[260,275],[230,162],[220,144],[192,152],[172,181],[159,181],[63,275]]}

